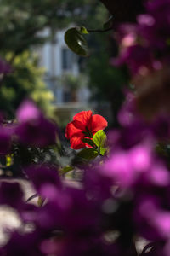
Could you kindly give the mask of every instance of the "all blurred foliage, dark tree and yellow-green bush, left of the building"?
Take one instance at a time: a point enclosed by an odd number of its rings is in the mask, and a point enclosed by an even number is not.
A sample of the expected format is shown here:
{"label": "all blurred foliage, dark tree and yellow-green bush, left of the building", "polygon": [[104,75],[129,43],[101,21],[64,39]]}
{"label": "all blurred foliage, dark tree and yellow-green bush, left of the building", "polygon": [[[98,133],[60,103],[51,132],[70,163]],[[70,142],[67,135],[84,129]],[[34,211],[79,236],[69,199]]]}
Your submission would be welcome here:
{"label": "all blurred foliage, dark tree and yellow-green bush, left of the building", "polygon": [[[55,32],[71,23],[97,26],[101,6],[98,0],[0,1],[0,55],[14,67],[14,73],[0,81],[0,107],[8,118],[14,117],[26,97],[53,115],[53,95],[43,84],[43,72],[31,52],[46,40],[52,41]],[[96,17],[93,22],[92,17]],[[48,38],[41,33],[46,27],[51,31]]]}

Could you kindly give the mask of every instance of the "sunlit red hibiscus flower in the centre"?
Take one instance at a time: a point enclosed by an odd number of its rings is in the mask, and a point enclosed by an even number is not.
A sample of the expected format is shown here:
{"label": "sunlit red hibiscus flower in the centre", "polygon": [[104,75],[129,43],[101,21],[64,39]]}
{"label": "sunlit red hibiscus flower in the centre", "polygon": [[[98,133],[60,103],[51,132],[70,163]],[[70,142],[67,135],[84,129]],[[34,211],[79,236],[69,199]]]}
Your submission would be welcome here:
{"label": "sunlit red hibiscus flower in the centre", "polygon": [[82,111],[73,117],[73,121],[66,126],[65,136],[70,140],[71,148],[86,148],[83,138],[92,138],[99,130],[104,130],[107,121],[99,114],[92,115],[92,111]]}

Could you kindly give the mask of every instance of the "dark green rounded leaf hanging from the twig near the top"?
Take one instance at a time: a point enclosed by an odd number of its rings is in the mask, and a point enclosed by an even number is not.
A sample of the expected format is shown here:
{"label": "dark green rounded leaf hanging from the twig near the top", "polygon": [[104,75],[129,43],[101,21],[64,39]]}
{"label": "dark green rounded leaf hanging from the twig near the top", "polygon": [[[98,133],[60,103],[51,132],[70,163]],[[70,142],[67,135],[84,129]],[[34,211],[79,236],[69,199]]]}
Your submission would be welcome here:
{"label": "dark green rounded leaf hanging from the twig near the top", "polygon": [[88,44],[82,37],[81,29],[72,27],[65,32],[65,43],[77,55],[88,57]]}

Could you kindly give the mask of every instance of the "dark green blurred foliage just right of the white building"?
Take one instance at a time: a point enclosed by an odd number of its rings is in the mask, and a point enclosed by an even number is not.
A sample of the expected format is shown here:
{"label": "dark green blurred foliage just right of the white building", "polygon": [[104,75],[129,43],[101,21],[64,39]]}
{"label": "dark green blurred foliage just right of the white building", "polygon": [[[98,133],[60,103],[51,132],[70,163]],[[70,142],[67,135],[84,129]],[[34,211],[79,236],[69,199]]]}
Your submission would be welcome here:
{"label": "dark green blurred foliage just right of the white building", "polygon": [[110,102],[112,125],[118,125],[116,116],[124,98],[122,90],[127,85],[127,73],[111,65],[111,54],[116,56],[116,44],[110,34],[99,33],[93,38],[96,44],[88,60],[87,70],[92,100],[98,104]]}

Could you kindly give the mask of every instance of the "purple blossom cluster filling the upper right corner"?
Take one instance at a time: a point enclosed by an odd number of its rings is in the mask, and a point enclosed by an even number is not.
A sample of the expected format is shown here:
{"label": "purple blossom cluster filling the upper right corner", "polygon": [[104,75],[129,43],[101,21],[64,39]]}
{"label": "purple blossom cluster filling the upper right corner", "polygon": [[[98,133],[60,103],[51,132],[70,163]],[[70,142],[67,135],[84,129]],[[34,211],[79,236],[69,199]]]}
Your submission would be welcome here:
{"label": "purple blossom cluster filling the upper right corner", "polygon": [[120,55],[113,64],[126,64],[133,76],[141,76],[159,70],[170,62],[169,0],[149,1],[147,13],[137,17],[136,25],[124,24],[119,27],[117,40],[121,44]]}

